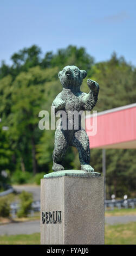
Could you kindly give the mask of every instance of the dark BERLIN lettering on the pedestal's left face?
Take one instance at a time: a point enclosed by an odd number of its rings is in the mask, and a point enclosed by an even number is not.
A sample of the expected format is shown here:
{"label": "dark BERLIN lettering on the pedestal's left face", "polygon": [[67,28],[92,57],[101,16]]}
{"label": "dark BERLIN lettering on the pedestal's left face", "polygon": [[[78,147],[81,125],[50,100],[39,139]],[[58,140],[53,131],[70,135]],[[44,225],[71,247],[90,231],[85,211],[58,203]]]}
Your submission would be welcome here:
{"label": "dark BERLIN lettering on the pedestal's left face", "polygon": [[61,223],[61,211],[42,211],[42,224]]}

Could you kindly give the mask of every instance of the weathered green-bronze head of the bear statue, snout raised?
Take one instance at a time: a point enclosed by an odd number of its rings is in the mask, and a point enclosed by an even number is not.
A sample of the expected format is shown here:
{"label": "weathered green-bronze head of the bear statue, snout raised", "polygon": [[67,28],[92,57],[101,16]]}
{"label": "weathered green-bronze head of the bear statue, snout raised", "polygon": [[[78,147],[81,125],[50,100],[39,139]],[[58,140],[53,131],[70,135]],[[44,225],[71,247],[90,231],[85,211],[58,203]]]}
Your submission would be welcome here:
{"label": "weathered green-bronze head of the bear statue, snout raised", "polygon": [[80,70],[77,66],[65,66],[62,71],[59,72],[63,88],[71,89],[75,92],[80,92],[80,86],[83,78],[87,75],[86,70]]}

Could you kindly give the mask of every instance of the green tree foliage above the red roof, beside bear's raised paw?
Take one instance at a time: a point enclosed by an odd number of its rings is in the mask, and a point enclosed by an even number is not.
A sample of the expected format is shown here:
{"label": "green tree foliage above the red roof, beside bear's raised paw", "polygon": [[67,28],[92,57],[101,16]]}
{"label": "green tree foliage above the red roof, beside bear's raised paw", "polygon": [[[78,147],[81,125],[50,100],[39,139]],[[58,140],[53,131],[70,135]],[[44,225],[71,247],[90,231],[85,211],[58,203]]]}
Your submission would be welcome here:
{"label": "green tree foliage above the red roof, beside bear's raised paw", "polygon": [[98,111],[136,102],[136,69],[114,53],[107,62],[94,65],[92,80],[100,84]]}

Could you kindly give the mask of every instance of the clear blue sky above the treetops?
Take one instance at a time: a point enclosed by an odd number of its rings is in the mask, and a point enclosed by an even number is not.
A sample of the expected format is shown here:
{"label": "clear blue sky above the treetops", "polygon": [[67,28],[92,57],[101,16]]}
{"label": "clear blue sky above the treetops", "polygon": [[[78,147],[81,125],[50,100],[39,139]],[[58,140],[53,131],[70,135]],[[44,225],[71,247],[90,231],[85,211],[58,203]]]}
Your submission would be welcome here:
{"label": "clear blue sky above the treetops", "polygon": [[43,54],[83,46],[96,62],[113,51],[136,66],[135,0],[4,0],[0,5],[0,62],[36,44]]}

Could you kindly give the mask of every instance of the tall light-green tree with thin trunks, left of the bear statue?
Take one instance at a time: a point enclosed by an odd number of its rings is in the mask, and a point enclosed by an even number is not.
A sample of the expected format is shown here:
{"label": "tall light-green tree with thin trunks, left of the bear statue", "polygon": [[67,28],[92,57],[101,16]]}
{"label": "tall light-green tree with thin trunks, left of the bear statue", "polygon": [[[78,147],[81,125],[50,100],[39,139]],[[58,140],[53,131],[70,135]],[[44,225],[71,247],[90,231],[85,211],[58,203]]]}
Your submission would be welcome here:
{"label": "tall light-green tree with thin trunks, left of the bear statue", "polygon": [[24,165],[26,150],[29,152],[31,148],[34,174],[37,172],[35,144],[40,137],[38,112],[41,110],[44,99],[43,83],[45,81],[44,71],[37,66],[31,68],[29,72],[21,72],[12,84],[10,132],[16,147],[21,152],[21,162]]}

